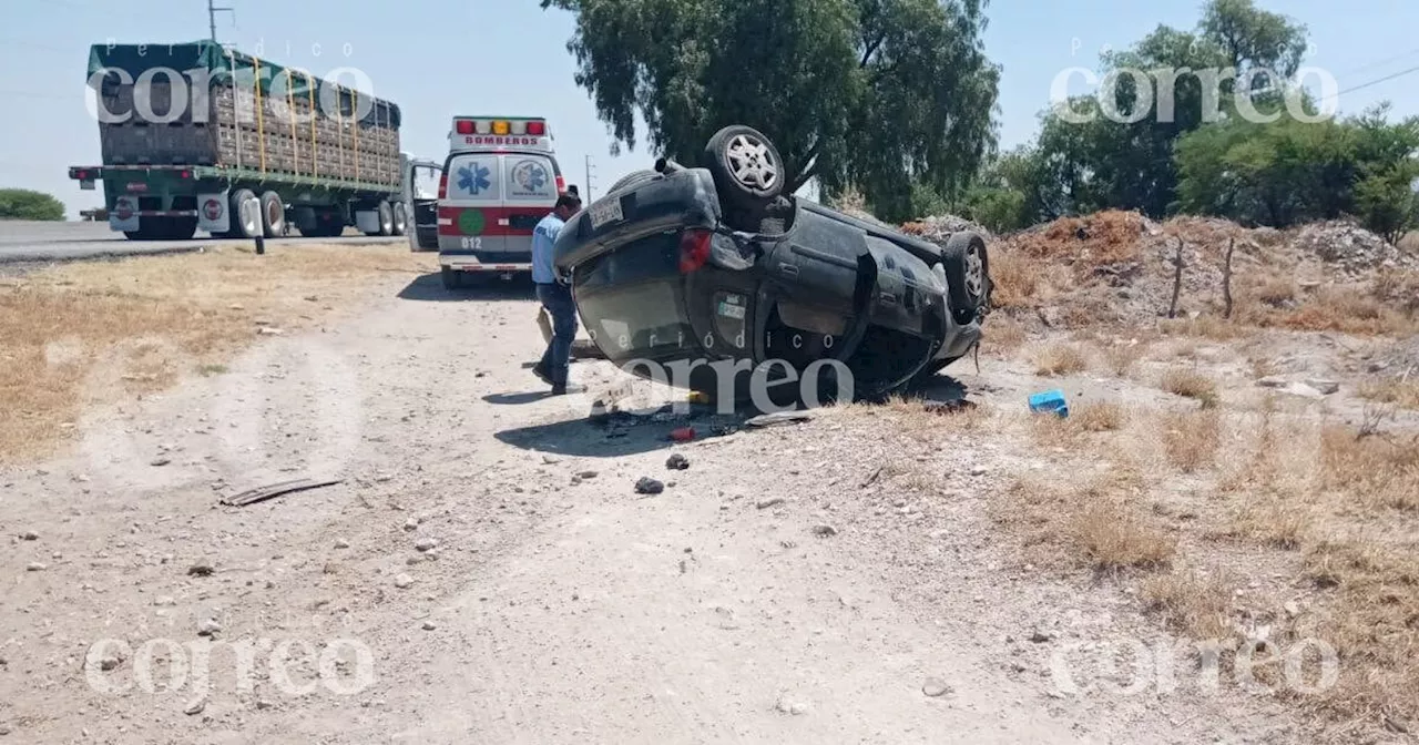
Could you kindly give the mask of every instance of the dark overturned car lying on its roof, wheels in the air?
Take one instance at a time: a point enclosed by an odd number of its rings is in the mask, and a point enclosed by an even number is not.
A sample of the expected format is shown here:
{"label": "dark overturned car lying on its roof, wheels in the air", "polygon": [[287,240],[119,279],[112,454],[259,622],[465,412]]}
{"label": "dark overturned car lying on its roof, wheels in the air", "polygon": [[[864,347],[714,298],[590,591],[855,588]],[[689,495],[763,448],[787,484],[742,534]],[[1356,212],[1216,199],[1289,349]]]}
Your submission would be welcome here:
{"label": "dark overturned car lying on its roof, wheels in the air", "polygon": [[575,214],[555,264],[606,358],[717,399],[792,390],[771,393],[780,403],[809,379],[827,399],[874,399],[981,339],[982,236],[937,245],[783,194],[783,182],[772,142],[728,126],[701,167],[661,159]]}

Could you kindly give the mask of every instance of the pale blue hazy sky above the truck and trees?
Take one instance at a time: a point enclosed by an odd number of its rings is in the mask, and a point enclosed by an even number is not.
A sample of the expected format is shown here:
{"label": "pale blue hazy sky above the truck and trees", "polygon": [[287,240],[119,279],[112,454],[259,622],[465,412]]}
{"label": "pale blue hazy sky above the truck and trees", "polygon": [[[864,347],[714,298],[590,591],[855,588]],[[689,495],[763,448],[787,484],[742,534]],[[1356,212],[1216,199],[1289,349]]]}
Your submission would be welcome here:
{"label": "pale blue hazy sky above the truck and trees", "polygon": [[[1340,91],[1419,67],[1413,0],[1261,0],[1310,28],[1307,64],[1330,71]],[[402,149],[441,160],[450,121],[467,114],[546,116],[558,159],[583,197],[648,167],[637,145],[619,158],[566,51],[573,18],[538,0],[219,0],[217,38],[275,62],[325,75],[348,67],[369,94],[403,109]],[[1200,0],[990,0],[986,54],[1002,65],[1000,145],[1027,142],[1056,77],[1098,68],[1098,53],[1122,48],[1158,24],[1192,28]],[[209,35],[207,0],[0,0],[0,187],[27,187],[65,202],[70,219],[102,192],[81,192],[70,166],[98,165],[98,123],[85,106],[88,47],[177,43]],[[345,78],[342,82],[349,82]],[[1074,78],[1073,89],[1083,89]],[[1419,114],[1419,71],[1341,92],[1341,114],[1388,99],[1395,115]],[[753,122],[745,122],[753,125]],[[592,160],[587,184],[586,158]],[[590,186],[590,189],[587,189]],[[0,227],[3,230],[3,227]]]}

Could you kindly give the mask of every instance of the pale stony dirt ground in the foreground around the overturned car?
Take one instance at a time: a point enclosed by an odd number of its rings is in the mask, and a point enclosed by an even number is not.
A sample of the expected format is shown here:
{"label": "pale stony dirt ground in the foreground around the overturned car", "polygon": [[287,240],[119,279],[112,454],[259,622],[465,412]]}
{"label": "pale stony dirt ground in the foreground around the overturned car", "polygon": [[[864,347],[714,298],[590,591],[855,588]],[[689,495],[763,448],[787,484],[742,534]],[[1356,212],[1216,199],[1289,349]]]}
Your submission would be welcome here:
{"label": "pale stony dirt ground in the foreground around the overturned car", "polygon": [[[1149,494],[1172,497],[1139,502],[1139,519],[1168,518],[1147,546],[1115,529],[1124,512],[1070,524],[1093,531],[1081,565],[1015,525],[1064,515],[1022,484],[1040,495],[1114,468],[1097,448],[1144,465],[1185,450],[1192,420],[1139,414],[1193,414],[1196,392],[1166,382],[1179,366],[1219,380],[1229,416],[1362,423],[1351,379],[1277,403],[1250,360],[1310,379],[1362,366],[1358,348],[1186,336],[1120,362],[1094,339],[1013,329],[932,392],[971,412],[847,406],[710,436],[704,417],[589,417],[616,380],[600,362],[573,365],[586,394],[543,396],[525,369],[534,319],[526,291],[450,297],[436,275],[389,272],[356,312],[94,407],[71,448],[0,471],[0,742],[1410,736],[1240,688],[1159,622],[1156,578],[1132,572],[1200,551],[1181,526],[1200,508],[1179,507],[1203,500],[1186,488],[1198,468],[1145,468]],[[1108,431],[1042,429],[1025,399],[1056,386],[1077,412],[1114,407],[1093,414]],[[684,424],[700,437],[667,441]],[[219,504],[302,477],[342,482]],[[641,477],[664,491],[637,494]],[[1243,575],[1219,613],[1270,593],[1313,607],[1288,578]]]}

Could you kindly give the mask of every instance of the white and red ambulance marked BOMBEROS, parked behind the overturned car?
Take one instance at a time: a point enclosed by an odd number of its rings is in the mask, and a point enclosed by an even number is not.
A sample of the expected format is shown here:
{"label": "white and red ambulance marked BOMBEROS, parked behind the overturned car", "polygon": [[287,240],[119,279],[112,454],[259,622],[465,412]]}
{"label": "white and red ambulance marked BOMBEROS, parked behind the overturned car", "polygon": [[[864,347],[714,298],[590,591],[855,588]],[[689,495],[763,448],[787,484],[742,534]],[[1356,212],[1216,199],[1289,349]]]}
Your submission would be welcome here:
{"label": "white and red ambulance marked BOMBEROS, parked behind the overturned car", "polygon": [[[454,116],[438,197],[413,199],[416,251],[438,251],[443,284],[532,272],[532,228],[552,211],[566,180],[539,116]],[[416,176],[417,177],[417,176]]]}

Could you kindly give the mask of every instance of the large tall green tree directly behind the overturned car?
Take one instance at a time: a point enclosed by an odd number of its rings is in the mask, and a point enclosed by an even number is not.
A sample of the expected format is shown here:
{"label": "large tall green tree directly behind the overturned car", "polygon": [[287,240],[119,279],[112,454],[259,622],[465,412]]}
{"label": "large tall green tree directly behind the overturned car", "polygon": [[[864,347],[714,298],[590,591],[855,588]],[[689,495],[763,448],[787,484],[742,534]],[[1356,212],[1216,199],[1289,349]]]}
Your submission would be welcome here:
{"label": "large tall green tree directly behind the overturned car", "polygon": [[617,145],[698,160],[731,123],[778,145],[786,186],[817,177],[911,217],[925,187],[959,194],[995,143],[999,68],[986,0],[542,0]]}

